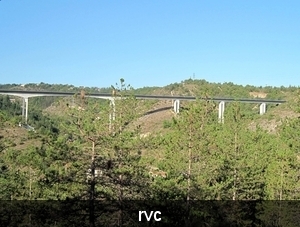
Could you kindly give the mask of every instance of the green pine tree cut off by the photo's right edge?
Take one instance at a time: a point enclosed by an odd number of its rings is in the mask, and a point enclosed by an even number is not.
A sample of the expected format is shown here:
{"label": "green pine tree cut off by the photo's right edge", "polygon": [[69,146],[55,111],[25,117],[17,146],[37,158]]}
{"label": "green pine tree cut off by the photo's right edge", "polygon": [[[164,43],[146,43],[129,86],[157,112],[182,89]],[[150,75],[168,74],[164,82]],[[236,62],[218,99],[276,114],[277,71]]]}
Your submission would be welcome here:
{"label": "green pine tree cut off by the photo's right edge", "polygon": [[266,196],[273,200],[299,197],[299,119],[286,119],[280,134],[274,139],[276,148],[271,154],[266,172]]}

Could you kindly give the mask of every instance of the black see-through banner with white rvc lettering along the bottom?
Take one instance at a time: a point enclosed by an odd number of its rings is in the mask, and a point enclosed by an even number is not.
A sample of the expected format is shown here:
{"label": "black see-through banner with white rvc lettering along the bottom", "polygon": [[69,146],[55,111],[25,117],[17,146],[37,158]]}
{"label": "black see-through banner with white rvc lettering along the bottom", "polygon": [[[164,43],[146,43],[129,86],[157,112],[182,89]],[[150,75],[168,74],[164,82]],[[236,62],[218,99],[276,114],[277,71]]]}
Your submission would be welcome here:
{"label": "black see-through banner with white rvc lettering along the bottom", "polygon": [[0,226],[300,226],[299,201],[1,201]]}

